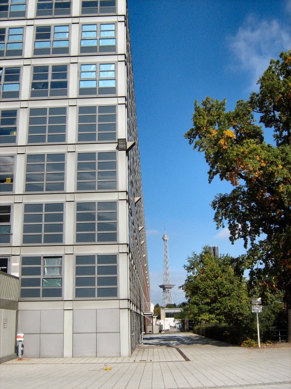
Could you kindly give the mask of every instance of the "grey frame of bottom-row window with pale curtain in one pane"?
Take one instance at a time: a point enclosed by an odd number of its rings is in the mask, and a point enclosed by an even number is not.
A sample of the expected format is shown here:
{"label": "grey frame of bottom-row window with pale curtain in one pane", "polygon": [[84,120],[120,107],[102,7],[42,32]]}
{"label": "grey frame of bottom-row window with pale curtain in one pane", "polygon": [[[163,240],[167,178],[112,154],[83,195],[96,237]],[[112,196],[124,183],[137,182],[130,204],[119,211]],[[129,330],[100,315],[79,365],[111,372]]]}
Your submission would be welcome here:
{"label": "grey frame of bottom-row window with pale curtain in one pane", "polygon": [[[34,258],[40,258],[40,264],[39,265],[23,265],[23,258],[30,258],[30,259],[34,259]],[[61,258],[61,265],[55,265],[55,266],[45,266],[45,259],[48,259],[48,258]],[[63,300],[63,296],[64,296],[64,255],[63,254],[47,254],[47,255],[37,255],[37,254],[33,254],[33,255],[21,255],[20,257],[20,264],[19,264],[19,300],[21,301],[29,301],[29,300]],[[22,269],[25,269],[25,268],[40,268],[40,274],[35,274],[35,275],[22,275]],[[44,274],[45,271],[44,271],[44,268],[45,267],[60,267],[61,269],[61,274],[60,275],[49,275],[49,274]],[[39,283],[39,286],[38,285],[31,285],[31,286],[22,286],[22,282],[23,280],[40,280],[40,283]],[[61,287],[51,287],[51,288],[48,288],[48,287],[45,287],[43,286],[43,280],[44,279],[61,279]],[[29,289],[35,289],[35,290],[38,290],[39,289],[39,297],[21,297],[21,291],[22,290],[29,290]],[[46,297],[42,297],[42,294],[43,294],[43,289],[45,290],[48,290],[48,289],[57,289],[57,290],[61,290],[61,296],[57,296],[57,297],[54,297],[54,296],[46,296]]]}

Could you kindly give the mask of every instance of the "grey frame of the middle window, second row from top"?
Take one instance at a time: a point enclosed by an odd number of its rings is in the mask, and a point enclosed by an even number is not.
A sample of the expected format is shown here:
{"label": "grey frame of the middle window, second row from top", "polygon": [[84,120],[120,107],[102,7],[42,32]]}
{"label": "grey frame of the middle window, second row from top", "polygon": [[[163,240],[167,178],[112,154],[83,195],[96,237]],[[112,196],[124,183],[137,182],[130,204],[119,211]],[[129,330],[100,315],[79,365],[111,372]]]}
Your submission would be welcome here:
{"label": "grey frame of the middle window, second row from top", "polygon": [[[68,31],[55,31],[58,27],[68,27]],[[49,28],[50,32],[43,31],[37,32],[37,29],[45,29]],[[65,38],[55,38],[55,34],[68,34],[68,37]],[[50,34],[50,38],[36,39],[37,35],[47,35]],[[39,47],[36,48],[35,45],[40,42],[49,42],[49,47]],[[58,46],[54,47],[55,42],[68,42],[68,46]],[[67,50],[57,50],[57,49],[67,49]],[[35,53],[35,51],[39,51],[39,53]],[[63,56],[69,55],[70,53],[70,24],[50,24],[50,25],[38,25],[34,28],[34,43],[33,43],[33,56],[34,57],[47,57],[47,56]]]}

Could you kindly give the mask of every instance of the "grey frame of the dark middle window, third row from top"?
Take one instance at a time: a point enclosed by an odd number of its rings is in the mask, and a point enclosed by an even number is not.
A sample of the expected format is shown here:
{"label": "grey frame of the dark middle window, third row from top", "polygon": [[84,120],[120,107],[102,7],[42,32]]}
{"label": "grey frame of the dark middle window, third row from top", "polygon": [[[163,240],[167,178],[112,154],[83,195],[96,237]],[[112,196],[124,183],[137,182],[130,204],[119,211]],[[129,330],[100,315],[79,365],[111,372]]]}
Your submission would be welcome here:
{"label": "grey frame of the dark middle window, third row from top", "polygon": [[[66,66],[67,67],[67,71],[53,71],[53,68],[56,68],[56,67],[62,67],[62,66]],[[39,71],[39,72],[34,72],[34,69],[35,68],[48,68],[48,71],[45,71],[43,70],[42,72]],[[66,73],[67,74],[67,78],[52,78],[52,75],[56,73],[56,74],[62,74],[62,73]],[[35,79],[34,80],[34,75],[36,74],[47,74],[48,75],[48,78],[43,78],[43,79]],[[37,77],[37,76],[36,76]],[[59,99],[59,98],[64,98],[64,97],[68,97],[68,94],[69,94],[69,91],[68,91],[68,87],[69,87],[69,64],[50,64],[50,65],[34,65],[32,66],[32,71],[31,71],[31,89],[30,89],[30,98],[31,99]],[[64,82],[64,83],[67,83],[67,87],[66,88],[51,88],[51,84],[52,83],[57,83],[57,82]],[[45,84],[48,84],[48,87],[47,88],[36,88],[36,89],[33,89],[33,85],[34,84],[41,84],[41,83],[45,83]],[[39,91],[39,90],[47,90],[47,95],[44,95],[44,94],[38,94],[38,93],[33,93],[34,91]],[[62,90],[66,90],[67,93],[66,94],[51,94],[51,90],[59,90],[59,91],[62,91]],[[34,94],[34,95],[33,95]]]}

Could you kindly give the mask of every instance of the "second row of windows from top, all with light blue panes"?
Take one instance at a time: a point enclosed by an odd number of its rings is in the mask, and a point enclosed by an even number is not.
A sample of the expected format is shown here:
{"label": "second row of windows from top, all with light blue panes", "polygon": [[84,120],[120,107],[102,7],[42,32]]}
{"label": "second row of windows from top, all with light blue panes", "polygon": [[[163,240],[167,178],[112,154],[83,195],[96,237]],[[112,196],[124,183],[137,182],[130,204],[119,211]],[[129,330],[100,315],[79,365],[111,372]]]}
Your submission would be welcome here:
{"label": "second row of windows from top, all with light blue panes", "polygon": [[[114,23],[82,24],[80,53],[115,53]],[[0,28],[0,57],[23,55],[24,27]],[[69,53],[69,25],[35,27],[34,56]]]}

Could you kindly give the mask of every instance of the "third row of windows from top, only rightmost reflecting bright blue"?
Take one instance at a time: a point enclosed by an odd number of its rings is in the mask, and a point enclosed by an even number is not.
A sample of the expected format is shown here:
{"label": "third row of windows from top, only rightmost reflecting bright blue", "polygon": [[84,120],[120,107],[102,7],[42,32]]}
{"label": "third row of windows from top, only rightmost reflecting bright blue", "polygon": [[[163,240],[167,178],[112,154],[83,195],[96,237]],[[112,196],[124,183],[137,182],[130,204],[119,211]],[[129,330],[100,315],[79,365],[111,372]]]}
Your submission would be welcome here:
{"label": "third row of windows from top, only rightmost reflecting bright blue", "polygon": [[[0,68],[0,98],[18,99],[21,68]],[[68,65],[34,66],[31,97],[68,96]],[[79,96],[116,94],[116,66],[113,64],[81,64]]]}

